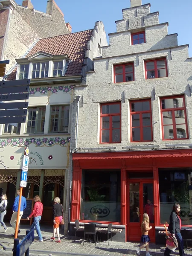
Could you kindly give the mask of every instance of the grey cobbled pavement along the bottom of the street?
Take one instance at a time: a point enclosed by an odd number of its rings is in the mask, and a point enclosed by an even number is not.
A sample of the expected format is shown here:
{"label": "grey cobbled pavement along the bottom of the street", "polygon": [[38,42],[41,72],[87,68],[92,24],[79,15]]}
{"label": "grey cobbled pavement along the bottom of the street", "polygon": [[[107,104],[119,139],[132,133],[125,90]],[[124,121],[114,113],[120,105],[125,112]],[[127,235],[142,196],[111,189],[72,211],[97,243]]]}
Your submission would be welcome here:
{"label": "grey cobbled pavement along the bottom of the street", "polygon": [[[23,239],[25,236],[25,231],[29,229],[29,226],[20,227],[21,232],[18,235],[19,239]],[[3,228],[2,228],[3,230]],[[8,230],[6,233],[0,232],[0,245],[3,246],[5,250],[2,252],[0,250],[0,256],[12,255],[11,251],[13,248],[14,238],[11,236],[13,234],[13,228],[8,225]],[[76,242],[73,241],[73,237],[64,236],[61,233],[61,243],[57,244],[50,239],[52,236],[52,229],[47,227],[41,227],[42,236],[44,241],[42,243],[36,242],[38,240],[37,233],[35,231],[35,240],[30,246],[30,256],[128,256],[137,255],[136,248],[139,243],[136,242],[99,242],[95,243],[84,243],[83,240],[79,239]],[[149,252],[152,256],[164,256],[165,246],[159,246],[154,243],[150,244]],[[186,255],[192,255],[191,250],[185,250]],[[3,254],[1,254],[3,253]],[[178,250],[172,255],[179,255]],[[145,256],[145,250],[141,251],[141,256]]]}

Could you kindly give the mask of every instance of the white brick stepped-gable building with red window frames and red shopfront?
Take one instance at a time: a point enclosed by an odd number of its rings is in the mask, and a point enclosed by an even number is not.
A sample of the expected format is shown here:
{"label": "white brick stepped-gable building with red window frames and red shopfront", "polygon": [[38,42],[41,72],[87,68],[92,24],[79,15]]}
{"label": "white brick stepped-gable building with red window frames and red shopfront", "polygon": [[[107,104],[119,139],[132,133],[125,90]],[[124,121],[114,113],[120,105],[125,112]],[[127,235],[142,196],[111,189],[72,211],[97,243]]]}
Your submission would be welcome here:
{"label": "white brick stepped-gable building with red window frames and red shopfront", "polygon": [[140,241],[147,212],[158,242],[174,202],[192,227],[192,58],[150,4],[130,1],[75,89],[71,223],[112,222],[114,239]]}

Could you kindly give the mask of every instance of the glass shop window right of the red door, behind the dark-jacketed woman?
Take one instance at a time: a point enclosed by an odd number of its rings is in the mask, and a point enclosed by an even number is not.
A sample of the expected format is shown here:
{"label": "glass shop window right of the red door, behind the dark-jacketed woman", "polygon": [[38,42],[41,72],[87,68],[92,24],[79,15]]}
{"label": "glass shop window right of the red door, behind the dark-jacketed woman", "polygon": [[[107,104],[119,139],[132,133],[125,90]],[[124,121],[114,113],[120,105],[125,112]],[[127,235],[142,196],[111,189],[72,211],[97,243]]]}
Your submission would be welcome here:
{"label": "glass shop window right of the red door, behind the dark-jacketed woman", "polygon": [[192,225],[192,168],[159,169],[160,223],[169,224],[173,204],[180,204],[182,225]]}

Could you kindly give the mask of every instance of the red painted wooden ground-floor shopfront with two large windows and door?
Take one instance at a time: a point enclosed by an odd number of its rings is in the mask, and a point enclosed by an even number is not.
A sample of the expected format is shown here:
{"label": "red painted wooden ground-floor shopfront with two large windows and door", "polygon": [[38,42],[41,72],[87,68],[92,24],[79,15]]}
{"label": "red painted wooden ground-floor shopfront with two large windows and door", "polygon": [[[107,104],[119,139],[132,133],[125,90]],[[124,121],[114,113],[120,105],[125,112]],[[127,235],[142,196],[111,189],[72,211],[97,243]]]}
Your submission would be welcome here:
{"label": "red painted wooden ground-floor shopfront with two large windows and door", "polygon": [[147,212],[155,241],[177,201],[183,226],[192,227],[191,157],[192,149],[74,153],[70,221],[112,222],[125,227],[125,241],[140,241]]}

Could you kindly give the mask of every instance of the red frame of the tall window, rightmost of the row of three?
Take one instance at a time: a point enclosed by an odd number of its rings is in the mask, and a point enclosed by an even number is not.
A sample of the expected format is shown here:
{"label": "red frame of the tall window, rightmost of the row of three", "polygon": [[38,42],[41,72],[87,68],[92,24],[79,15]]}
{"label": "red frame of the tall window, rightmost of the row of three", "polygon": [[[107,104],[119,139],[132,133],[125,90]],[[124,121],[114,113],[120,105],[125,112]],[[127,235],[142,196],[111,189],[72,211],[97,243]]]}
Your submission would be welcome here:
{"label": "red frame of the tall window, rightmost of the row of three", "polygon": [[[162,108],[162,100],[163,99],[178,99],[178,98],[183,98],[183,107],[180,107],[180,108]],[[184,95],[176,95],[176,96],[169,96],[169,97],[160,98],[160,110],[161,110],[163,140],[188,140],[189,139],[189,133],[188,133],[188,125],[187,125],[187,117],[186,117],[185,96]],[[175,122],[175,111],[181,111],[181,110],[183,110],[184,113],[185,113],[185,123],[180,123],[180,125],[186,125],[186,138],[180,138],[179,139],[179,138],[177,138],[177,128],[176,128],[176,122]],[[165,139],[164,138],[164,126],[170,126],[170,125],[169,124],[168,125],[163,124],[163,112],[168,112],[168,111],[172,112],[173,139]]]}

